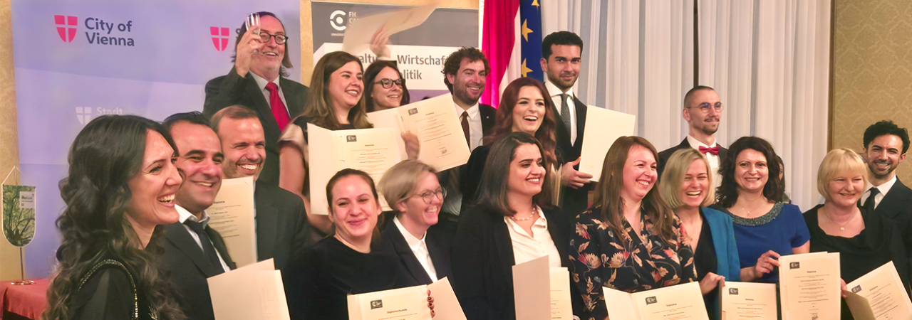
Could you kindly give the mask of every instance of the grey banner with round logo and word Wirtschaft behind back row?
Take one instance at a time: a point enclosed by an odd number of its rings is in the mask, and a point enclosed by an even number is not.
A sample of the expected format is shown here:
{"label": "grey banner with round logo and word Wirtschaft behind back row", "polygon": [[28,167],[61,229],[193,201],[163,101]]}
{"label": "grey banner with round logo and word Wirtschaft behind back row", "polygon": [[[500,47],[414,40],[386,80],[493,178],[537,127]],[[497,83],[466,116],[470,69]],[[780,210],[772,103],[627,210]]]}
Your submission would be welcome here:
{"label": "grey banner with round logo and word Wirtschaft behind back row", "polygon": [[[314,64],[327,53],[342,50],[349,24],[358,17],[401,10],[402,5],[367,5],[334,2],[311,3],[314,24]],[[411,101],[449,93],[443,84],[443,61],[462,46],[479,47],[478,10],[437,8],[423,24],[389,36],[391,58],[406,79]],[[353,52],[367,67],[377,57],[367,45]]]}

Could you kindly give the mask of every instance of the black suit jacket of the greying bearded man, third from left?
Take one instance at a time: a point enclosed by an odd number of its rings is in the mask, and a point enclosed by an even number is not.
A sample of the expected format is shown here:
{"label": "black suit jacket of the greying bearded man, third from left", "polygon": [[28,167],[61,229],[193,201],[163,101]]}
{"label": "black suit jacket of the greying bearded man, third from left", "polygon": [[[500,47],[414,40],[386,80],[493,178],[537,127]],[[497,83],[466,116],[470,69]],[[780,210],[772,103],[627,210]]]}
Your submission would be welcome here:
{"label": "black suit jacket of the greying bearded man, third from left", "polygon": [[277,185],[257,179],[254,191],[256,205],[256,259],[275,259],[275,268],[285,270],[295,256],[310,245],[310,225],[301,197]]}

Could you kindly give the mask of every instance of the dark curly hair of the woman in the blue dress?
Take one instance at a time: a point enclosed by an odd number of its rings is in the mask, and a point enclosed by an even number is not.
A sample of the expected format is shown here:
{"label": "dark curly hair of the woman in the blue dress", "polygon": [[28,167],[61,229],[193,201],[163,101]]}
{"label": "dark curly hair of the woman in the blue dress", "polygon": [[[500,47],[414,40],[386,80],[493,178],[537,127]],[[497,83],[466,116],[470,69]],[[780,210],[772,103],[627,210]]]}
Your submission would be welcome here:
{"label": "dark curly hair of the woman in the blue dress", "polygon": [[735,167],[738,165],[735,159],[744,150],[754,150],[766,157],[766,166],[769,170],[766,185],[763,185],[763,197],[772,202],[782,202],[782,195],[785,195],[785,184],[779,173],[782,172],[775,150],[766,140],[756,136],[742,136],[736,140],[729,152],[721,159],[719,165],[719,174],[722,176],[722,183],[716,189],[716,199],[719,205],[731,208],[738,201],[738,183],[735,182]]}

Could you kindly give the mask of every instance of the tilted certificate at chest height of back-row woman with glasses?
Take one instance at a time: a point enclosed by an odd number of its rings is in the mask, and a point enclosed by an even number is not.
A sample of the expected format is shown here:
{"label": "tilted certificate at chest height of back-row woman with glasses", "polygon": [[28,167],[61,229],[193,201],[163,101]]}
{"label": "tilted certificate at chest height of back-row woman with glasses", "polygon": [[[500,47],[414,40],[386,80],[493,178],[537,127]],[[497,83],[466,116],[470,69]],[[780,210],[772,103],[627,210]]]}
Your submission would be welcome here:
{"label": "tilted certificate at chest height of back-row woman with glasses", "polygon": [[[418,159],[437,171],[447,170],[469,161],[469,145],[465,143],[459,116],[453,109],[452,95],[440,95],[414,104],[368,114],[375,127],[389,127],[397,136],[410,132],[418,136]],[[399,143],[399,155],[405,159],[405,143]]]}

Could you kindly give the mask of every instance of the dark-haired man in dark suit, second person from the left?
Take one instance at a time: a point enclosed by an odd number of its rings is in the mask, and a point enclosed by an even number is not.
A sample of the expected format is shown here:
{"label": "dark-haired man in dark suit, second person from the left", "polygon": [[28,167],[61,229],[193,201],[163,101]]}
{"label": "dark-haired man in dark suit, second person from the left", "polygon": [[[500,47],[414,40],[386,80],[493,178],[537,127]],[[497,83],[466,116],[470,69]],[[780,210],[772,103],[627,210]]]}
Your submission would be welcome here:
{"label": "dark-haired man in dark suit, second person from the left", "polygon": [[212,319],[206,278],[235,268],[222,236],[209,227],[206,209],[222,186],[222,144],[199,112],[171,115],[162,124],[177,146],[174,162],[184,183],[174,196],[180,220],[165,225],[159,241],[177,301],[190,319]]}

